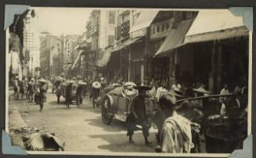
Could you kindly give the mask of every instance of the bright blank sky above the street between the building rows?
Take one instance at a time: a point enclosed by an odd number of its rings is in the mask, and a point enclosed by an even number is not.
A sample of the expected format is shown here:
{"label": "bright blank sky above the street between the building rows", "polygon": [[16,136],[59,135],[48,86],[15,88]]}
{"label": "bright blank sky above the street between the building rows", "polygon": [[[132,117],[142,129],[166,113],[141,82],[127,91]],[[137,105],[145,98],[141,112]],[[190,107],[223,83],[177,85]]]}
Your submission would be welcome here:
{"label": "bright blank sky above the street between the building rows", "polygon": [[32,7],[37,17],[33,27],[38,32],[47,31],[54,35],[85,32],[85,25],[92,12],[86,8]]}

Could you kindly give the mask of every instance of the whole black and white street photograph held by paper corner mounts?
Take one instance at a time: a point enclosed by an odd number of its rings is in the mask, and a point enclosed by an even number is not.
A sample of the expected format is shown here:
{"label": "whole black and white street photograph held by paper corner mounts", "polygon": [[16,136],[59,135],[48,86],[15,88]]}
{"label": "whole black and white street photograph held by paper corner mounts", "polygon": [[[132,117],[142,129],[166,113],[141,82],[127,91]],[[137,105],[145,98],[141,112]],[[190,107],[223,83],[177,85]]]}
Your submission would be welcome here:
{"label": "whole black and white street photograph held by paper corner mounts", "polygon": [[31,6],[6,42],[5,131],[28,154],[229,156],[251,134],[229,9]]}

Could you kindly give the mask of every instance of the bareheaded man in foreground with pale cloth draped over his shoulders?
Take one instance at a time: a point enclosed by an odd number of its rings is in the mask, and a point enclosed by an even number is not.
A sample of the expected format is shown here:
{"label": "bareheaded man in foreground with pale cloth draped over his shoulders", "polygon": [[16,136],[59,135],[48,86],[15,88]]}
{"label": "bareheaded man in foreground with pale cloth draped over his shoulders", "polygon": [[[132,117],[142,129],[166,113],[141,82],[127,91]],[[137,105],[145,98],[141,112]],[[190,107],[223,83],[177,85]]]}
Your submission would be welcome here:
{"label": "bareheaded man in foreground with pale cloth draped over his shoulders", "polygon": [[172,94],[164,94],[159,99],[163,111],[163,128],[160,133],[160,145],[156,151],[162,153],[190,153],[193,148],[191,122],[176,112],[176,98]]}

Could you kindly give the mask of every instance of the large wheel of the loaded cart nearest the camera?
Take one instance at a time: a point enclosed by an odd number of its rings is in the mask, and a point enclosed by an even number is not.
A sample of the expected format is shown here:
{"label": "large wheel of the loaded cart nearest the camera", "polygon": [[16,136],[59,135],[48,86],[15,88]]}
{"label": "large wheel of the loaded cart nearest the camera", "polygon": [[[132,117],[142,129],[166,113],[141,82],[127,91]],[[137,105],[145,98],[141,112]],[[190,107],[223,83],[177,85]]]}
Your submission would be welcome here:
{"label": "large wheel of the loaded cart nearest the camera", "polygon": [[103,104],[101,106],[101,117],[103,123],[110,124],[113,120],[113,114],[110,113],[110,99],[105,98],[103,99]]}

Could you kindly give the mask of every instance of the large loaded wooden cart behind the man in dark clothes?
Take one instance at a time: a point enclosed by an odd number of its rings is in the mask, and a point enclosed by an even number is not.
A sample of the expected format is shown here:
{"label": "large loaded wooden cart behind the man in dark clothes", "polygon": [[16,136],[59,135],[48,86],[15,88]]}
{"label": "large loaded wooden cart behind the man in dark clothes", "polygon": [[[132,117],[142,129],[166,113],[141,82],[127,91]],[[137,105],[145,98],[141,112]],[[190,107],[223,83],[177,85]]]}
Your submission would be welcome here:
{"label": "large loaded wooden cart behind the man in dark clothes", "polygon": [[[128,113],[131,111],[132,100],[138,95],[135,88],[127,88],[128,86],[135,86],[135,84],[132,82],[126,83],[124,86],[114,84],[103,90],[101,95],[103,123],[110,124],[113,118],[126,121]],[[146,112],[152,114],[157,112],[157,98],[146,98]]]}

